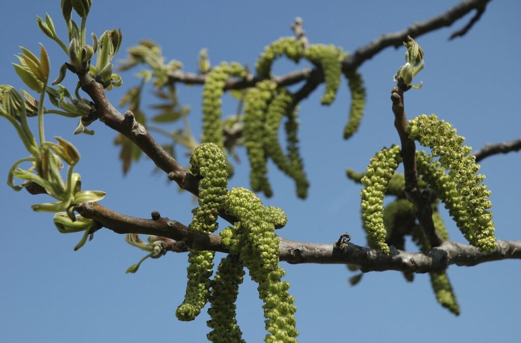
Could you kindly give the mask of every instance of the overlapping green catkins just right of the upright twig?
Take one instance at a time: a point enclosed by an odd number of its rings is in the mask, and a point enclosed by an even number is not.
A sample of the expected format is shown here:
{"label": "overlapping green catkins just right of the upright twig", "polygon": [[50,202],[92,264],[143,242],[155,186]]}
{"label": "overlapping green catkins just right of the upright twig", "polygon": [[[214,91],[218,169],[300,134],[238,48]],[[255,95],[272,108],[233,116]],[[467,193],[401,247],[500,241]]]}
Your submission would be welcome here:
{"label": "overlapping green catkins just right of the upright twig", "polygon": [[[490,190],[481,184],[485,175],[477,174],[479,165],[472,150],[464,146],[465,138],[458,136],[451,124],[438,120],[435,115],[421,115],[409,121],[407,133],[421,145],[430,147],[432,156],[439,156],[439,164],[422,164],[420,173],[431,173],[429,185],[437,190],[465,238],[479,251],[495,250]],[[442,169],[439,169],[441,166]],[[440,170],[440,171],[437,171]],[[446,177],[444,170],[449,170]],[[439,192],[438,192],[439,191]]]}

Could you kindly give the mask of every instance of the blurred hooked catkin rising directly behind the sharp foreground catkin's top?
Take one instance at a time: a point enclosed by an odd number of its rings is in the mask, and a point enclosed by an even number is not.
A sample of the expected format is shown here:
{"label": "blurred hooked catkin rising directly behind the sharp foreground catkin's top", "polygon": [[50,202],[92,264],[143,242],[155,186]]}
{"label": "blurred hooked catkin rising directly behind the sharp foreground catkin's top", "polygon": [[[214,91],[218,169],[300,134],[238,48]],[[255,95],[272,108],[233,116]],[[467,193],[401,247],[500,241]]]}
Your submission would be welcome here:
{"label": "blurred hooked catkin rising directly behind the sharp foreground catkin's top", "polygon": [[203,89],[203,137],[202,142],[212,142],[224,149],[222,132],[222,100],[226,80],[231,76],[245,77],[246,70],[239,63],[222,62],[208,73]]}

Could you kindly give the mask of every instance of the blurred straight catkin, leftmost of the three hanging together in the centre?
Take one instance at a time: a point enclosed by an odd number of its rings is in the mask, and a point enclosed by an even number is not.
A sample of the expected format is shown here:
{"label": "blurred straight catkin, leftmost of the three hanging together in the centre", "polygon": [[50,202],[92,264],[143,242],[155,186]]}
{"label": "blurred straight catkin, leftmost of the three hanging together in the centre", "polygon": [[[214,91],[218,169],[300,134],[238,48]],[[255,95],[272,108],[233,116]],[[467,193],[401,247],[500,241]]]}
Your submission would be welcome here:
{"label": "blurred straight catkin, leftmost of the three hanging together in the centre", "polygon": [[255,192],[273,195],[266,177],[266,155],[264,153],[264,122],[268,103],[274,95],[277,84],[270,80],[257,82],[244,99],[244,146],[250,160],[250,183]]}

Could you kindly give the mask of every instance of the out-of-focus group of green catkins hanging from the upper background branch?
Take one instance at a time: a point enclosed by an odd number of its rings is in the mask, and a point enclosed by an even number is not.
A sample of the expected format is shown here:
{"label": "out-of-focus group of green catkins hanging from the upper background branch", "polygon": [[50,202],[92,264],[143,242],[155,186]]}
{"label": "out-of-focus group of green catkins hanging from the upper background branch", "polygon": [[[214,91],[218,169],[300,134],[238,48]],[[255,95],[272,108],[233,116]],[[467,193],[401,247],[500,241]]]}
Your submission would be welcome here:
{"label": "out-of-focus group of green catkins hanging from the upper background branch", "polygon": [[[266,161],[271,158],[276,166],[296,185],[300,198],[307,196],[309,182],[303,170],[302,159],[297,148],[297,103],[293,94],[285,87],[271,81],[271,66],[280,57],[286,56],[298,62],[301,58],[311,61],[324,72],[326,90],[321,103],[330,105],[340,84],[342,73],[341,61],[346,54],[333,45],[315,44],[304,47],[295,37],[282,37],[268,45],[255,63],[259,81],[249,88],[244,100],[243,142],[251,165],[251,187],[255,192],[263,192],[270,197],[273,192],[267,179]],[[209,71],[203,91],[203,139],[224,147],[223,125],[221,120],[221,97],[229,77],[244,77],[246,70],[237,63],[222,63]],[[365,105],[365,89],[361,75],[356,72],[345,74],[349,80],[352,101],[349,122],[344,130],[344,137],[349,138],[358,128]],[[279,143],[279,126],[286,117],[287,153]]]}

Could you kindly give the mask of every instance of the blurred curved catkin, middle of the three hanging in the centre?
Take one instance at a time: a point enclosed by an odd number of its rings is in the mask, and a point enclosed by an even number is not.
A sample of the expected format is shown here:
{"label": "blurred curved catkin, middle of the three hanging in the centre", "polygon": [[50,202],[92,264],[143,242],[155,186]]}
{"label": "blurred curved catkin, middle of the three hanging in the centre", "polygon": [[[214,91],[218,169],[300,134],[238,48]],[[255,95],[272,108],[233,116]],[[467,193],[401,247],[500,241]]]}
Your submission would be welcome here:
{"label": "blurred curved catkin, middle of the three hanging in the centre", "polygon": [[297,196],[305,198],[309,186],[306,175],[302,169],[293,168],[290,159],[284,155],[279,144],[280,121],[289,111],[293,111],[293,98],[284,88],[279,88],[277,96],[271,101],[266,111],[264,149],[266,155],[275,162],[277,167],[295,180],[297,190],[300,191],[297,192]]}

